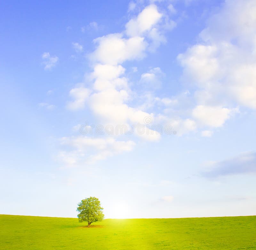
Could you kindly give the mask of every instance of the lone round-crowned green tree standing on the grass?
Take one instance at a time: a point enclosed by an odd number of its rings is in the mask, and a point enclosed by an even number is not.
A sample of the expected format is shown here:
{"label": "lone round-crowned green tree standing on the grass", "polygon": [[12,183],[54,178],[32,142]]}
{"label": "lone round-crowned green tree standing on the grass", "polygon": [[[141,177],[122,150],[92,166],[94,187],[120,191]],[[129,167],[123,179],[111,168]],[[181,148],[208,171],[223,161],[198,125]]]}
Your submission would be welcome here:
{"label": "lone round-crowned green tree standing on the grass", "polygon": [[76,211],[79,212],[77,215],[79,222],[87,221],[88,227],[90,227],[91,223],[103,220],[103,207],[101,207],[98,198],[89,197],[81,200],[77,205]]}

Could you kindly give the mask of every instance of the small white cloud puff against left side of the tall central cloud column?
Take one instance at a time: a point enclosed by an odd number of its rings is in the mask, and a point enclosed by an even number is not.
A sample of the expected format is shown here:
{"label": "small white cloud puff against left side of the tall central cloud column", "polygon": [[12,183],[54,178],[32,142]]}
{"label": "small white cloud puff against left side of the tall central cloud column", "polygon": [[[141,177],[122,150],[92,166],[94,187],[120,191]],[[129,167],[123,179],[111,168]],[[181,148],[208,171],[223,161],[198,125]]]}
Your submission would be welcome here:
{"label": "small white cloud puff against left side of the tall central cloud column", "polygon": [[67,104],[69,110],[83,109],[85,101],[89,97],[91,90],[84,87],[74,88],[69,91],[69,95],[74,99]]}

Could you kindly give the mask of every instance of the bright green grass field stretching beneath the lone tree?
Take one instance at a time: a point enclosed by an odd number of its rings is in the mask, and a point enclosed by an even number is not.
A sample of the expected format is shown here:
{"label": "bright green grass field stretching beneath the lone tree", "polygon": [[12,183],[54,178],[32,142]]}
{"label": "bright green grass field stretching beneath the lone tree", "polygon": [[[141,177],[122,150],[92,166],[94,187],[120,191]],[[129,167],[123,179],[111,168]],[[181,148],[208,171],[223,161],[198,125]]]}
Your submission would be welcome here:
{"label": "bright green grass field stretching beneath the lone tree", "polygon": [[106,219],[0,215],[0,249],[256,249],[256,216]]}

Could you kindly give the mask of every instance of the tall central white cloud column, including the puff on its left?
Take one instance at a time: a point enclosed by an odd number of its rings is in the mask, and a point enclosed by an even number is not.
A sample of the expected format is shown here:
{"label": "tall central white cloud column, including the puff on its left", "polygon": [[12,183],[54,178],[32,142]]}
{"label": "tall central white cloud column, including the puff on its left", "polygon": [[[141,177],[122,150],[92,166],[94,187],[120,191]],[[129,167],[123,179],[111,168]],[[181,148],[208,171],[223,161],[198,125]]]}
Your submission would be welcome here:
{"label": "tall central white cloud column, including the puff on its left", "polygon": [[[137,17],[134,17],[126,24],[122,33],[109,34],[94,39],[95,50],[91,53],[90,59],[94,63],[90,76],[92,80],[92,93],[88,97],[88,91],[81,92],[76,88],[70,91],[75,99],[68,104],[69,109],[84,107],[85,99],[93,113],[101,121],[110,124],[144,123],[144,117],[153,116],[140,107],[132,107],[129,101],[134,93],[129,86],[129,80],[124,76],[125,68],[121,65],[128,60],[142,59],[146,56],[149,45],[152,42],[150,34],[157,27],[163,14],[156,5],[151,4],[145,7]],[[139,27],[134,30],[134,25]],[[159,35],[161,32],[159,32]],[[159,82],[158,77],[162,74],[160,68],[153,68],[142,75],[142,80]],[[139,134],[138,134],[139,135]],[[152,133],[148,139],[159,138],[159,135]]]}

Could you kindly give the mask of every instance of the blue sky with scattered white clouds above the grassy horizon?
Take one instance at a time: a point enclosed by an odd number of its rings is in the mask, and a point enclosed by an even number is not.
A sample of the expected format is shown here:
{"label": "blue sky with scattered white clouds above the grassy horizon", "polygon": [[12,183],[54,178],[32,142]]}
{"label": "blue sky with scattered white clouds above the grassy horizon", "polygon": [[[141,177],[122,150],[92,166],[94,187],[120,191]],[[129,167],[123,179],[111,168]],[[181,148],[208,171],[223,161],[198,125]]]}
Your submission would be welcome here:
{"label": "blue sky with scattered white clouds above the grassy horizon", "polygon": [[255,214],[254,0],[0,10],[0,213],[96,196],[106,218]]}

